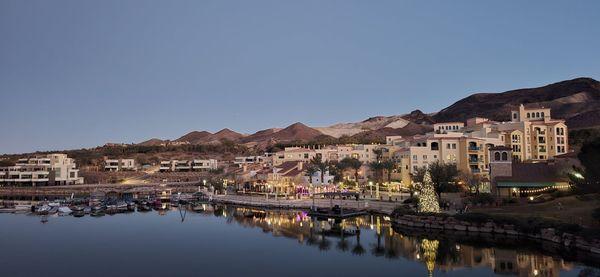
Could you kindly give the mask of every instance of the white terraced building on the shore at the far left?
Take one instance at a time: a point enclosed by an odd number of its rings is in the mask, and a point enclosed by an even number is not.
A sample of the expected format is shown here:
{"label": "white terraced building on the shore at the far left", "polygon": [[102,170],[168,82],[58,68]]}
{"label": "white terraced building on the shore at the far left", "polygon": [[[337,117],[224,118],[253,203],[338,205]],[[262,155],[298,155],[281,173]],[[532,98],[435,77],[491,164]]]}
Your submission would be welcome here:
{"label": "white terraced building on the shore at the far left", "polygon": [[75,161],[65,154],[20,159],[0,167],[0,186],[53,186],[83,184]]}

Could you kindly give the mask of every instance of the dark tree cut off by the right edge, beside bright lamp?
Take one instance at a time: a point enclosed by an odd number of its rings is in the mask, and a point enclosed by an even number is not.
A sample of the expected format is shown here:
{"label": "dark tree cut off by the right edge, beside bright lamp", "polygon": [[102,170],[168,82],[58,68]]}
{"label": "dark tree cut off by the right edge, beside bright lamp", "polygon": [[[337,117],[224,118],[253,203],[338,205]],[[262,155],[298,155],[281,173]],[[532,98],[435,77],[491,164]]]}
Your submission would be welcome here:
{"label": "dark tree cut off by the right edge, beside bright lamp", "polygon": [[575,168],[575,172],[569,174],[577,190],[581,193],[600,191],[600,138],[584,143],[577,158],[583,169]]}

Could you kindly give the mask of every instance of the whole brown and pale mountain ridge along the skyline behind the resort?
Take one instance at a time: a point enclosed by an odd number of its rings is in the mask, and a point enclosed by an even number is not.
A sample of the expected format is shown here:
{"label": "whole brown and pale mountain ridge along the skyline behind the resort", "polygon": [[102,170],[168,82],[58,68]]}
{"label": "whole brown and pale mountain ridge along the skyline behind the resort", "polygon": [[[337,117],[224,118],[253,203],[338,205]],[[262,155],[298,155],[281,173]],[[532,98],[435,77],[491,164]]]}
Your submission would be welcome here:
{"label": "whole brown and pale mountain ridge along the skyline behind the resort", "polygon": [[[214,134],[193,131],[174,142],[216,144],[229,140],[259,148],[280,142],[309,142],[343,136],[359,141],[381,142],[389,135],[412,136],[430,132],[435,122],[466,121],[476,116],[508,121],[510,111],[518,108],[521,103],[551,108],[552,117],[565,119],[573,129],[600,127],[600,82],[591,78],[576,78],[538,88],[476,93],[431,114],[414,110],[404,115],[373,116],[360,122],[314,128],[296,122],[285,128],[269,128],[251,135],[243,135],[227,128]],[[139,145],[166,143],[170,141],[154,138]]]}

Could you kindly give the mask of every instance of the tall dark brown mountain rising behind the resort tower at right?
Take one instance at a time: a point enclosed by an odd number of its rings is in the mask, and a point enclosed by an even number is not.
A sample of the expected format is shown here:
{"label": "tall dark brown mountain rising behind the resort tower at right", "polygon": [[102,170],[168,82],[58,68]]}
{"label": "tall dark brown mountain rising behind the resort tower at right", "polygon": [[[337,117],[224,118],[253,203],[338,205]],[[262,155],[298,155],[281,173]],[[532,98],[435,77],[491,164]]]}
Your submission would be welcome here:
{"label": "tall dark brown mountain rising behind the resort tower at right", "polygon": [[523,103],[552,109],[552,117],[566,119],[578,128],[600,125],[600,82],[577,78],[538,88],[502,93],[477,93],[463,98],[433,116],[436,122],[465,121],[479,116],[497,121],[510,120],[510,111]]}

